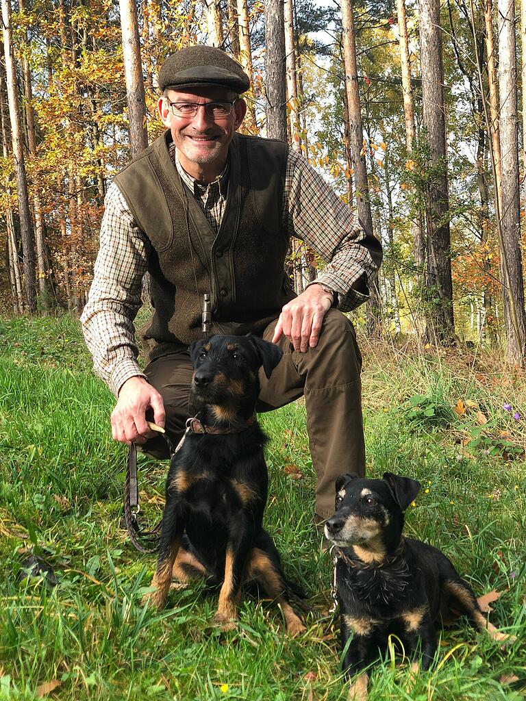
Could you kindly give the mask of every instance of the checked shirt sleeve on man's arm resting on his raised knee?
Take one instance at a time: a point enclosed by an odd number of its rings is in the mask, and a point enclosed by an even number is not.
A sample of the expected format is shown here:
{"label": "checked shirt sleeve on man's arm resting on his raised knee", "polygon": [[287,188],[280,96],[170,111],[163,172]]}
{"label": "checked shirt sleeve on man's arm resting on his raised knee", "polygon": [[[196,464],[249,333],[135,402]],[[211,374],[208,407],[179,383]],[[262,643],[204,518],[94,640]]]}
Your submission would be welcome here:
{"label": "checked shirt sleeve on man's arm resting on his raised knee", "polygon": [[360,306],[382,262],[382,245],[293,149],[285,174],[283,218],[290,236],[307,243],[327,264],[313,283],[338,293],[340,311]]}

